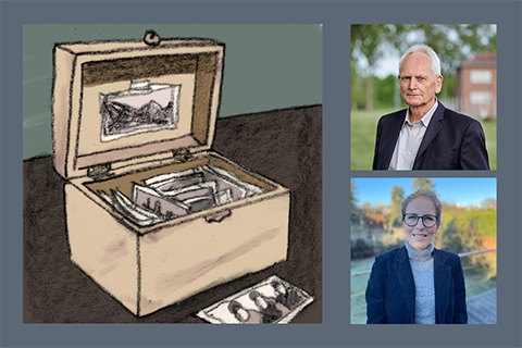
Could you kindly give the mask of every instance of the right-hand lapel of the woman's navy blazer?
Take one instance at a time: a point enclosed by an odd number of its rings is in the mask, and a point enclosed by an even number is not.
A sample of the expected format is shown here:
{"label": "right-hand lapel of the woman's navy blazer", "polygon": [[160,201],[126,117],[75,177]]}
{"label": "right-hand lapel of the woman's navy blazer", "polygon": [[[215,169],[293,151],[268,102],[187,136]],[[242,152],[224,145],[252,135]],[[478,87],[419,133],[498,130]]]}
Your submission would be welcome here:
{"label": "right-hand lapel of the woman's navy blazer", "polygon": [[433,273],[435,281],[435,323],[444,324],[449,302],[451,266],[446,264],[448,258],[437,249],[433,252]]}

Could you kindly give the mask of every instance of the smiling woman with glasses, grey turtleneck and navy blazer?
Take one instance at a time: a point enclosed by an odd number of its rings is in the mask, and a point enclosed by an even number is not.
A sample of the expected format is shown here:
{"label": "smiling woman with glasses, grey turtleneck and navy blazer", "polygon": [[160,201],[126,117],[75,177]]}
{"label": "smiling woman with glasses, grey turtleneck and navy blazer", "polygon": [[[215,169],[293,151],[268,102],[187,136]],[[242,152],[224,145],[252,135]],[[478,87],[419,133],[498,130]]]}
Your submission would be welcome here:
{"label": "smiling woman with glasses, grey turtleneck and navy blazer", "polygon": [[420,189],[402,202],[406,243],[375,258],[366,288],[368,324],[467,324],[460,258],[434,248],[443,206]]}

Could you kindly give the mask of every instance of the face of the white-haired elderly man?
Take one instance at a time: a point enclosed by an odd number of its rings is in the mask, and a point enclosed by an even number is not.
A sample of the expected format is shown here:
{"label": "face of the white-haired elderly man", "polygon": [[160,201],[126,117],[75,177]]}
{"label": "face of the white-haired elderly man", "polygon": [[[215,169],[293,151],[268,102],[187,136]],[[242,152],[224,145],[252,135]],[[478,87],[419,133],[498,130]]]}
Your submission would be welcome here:
{"label": "face of the white-haired elderly man", "polygon": [[431,108],[435,102],[435,94],[438,94],[443,87],[443,76],[435,76],[430,57],[424,52],[412,53],[405,58],[399,82],[402,99],[411,108]]}

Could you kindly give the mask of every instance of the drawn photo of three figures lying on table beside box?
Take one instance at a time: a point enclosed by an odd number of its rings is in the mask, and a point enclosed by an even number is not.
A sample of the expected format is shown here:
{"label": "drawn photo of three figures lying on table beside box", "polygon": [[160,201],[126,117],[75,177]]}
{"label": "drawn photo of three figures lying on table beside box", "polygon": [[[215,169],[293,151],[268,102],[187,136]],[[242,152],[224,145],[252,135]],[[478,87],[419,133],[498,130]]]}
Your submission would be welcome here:
{"label": "drawn photo of three figures lying on table beside box", "polygon": [[273,275],[197,315],[212,324],[287,324],[313,300],[301,288]]}

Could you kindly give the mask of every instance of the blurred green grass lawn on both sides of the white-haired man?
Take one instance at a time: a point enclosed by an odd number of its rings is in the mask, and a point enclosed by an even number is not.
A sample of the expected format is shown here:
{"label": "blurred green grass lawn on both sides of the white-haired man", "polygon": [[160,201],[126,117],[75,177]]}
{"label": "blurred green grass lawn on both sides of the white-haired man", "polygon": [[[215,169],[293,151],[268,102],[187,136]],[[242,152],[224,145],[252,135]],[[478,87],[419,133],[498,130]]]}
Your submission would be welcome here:
{"label": "blurred green grass lawn on both sides of the white-haired man", "polygon": [[[352,171],[371,171],[373,152],[375,148],[375,134],[378,119],[393,109],[378,109],[371,112],[351,111],[350,124],[350,164]],[[486,148],[489,153],[489,166],[492,171],[497,169],[497,123],[494,121],[481,121],[486,135]]]}

